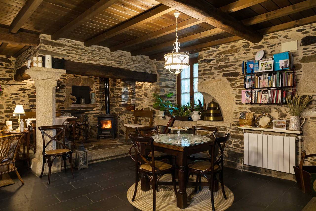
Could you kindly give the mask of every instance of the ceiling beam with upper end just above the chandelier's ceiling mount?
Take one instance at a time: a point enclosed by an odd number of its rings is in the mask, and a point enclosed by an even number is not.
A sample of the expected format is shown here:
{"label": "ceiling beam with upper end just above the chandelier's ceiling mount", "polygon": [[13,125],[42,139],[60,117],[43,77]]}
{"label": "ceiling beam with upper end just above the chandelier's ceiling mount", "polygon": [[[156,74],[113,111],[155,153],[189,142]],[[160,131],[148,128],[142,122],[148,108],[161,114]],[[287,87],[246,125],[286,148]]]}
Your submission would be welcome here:
{"label": "ceiling beam with upper end just above the chandelier's ceiling mount", "polygon": [[155,19],[156,17],[162,16],[168,12],[173,11],[173,8],[170,8],[166,5],[159,5],[155,8],[153,8],[152,10],[146,11],[145,13],[131,18],[130,20],[128,20],[127,22],[120,24],[118,26],[114,26],[111,29],[107,30],[106,32],[95,36],[91,39],[89,39],[88,41],[84,42],[85,46],[91,46],[91,45],[95,45],[98,44],[99,42],[102,42],[108,38],[111,38],[115,35],[118,35],[124,31],[127,31],[129,29],[132,29],[136,26],[139,26],[145,22],[148,22],[152,19]]}

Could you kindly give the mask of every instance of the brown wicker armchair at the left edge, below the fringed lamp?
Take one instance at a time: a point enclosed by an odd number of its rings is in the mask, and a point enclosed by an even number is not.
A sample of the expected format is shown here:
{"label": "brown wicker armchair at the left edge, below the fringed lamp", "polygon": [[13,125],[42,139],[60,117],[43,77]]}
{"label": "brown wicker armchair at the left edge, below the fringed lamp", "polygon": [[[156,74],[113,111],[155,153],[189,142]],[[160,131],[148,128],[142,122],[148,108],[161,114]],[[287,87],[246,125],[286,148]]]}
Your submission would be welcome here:
{"label": "brown wicker armchair at the left edge, below the fringed lamp", "polygon": [[15,157],[20,150],[23,136],[24,134],[0,136],[0,176],[15,171],[22,184],[24,181],[15,167]]}

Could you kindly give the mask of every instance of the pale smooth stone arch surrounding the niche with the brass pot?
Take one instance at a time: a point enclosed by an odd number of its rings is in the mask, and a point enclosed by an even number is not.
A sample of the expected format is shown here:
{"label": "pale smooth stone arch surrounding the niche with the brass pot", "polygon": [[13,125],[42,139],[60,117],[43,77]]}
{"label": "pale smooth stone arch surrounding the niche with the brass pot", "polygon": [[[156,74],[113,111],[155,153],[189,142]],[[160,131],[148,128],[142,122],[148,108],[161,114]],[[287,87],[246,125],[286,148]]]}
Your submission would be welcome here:
{"label": "pale smooth stone arch surrounding the niche with the brass pot", "polygon": [[197,91],[203,94],[206,106],[214,99],[219,104],[224,119],[221,122],[199,120],[197,125],[231,126],[234,96],[230,89],[228,82],[222,79],[211,79],[197,84]]}

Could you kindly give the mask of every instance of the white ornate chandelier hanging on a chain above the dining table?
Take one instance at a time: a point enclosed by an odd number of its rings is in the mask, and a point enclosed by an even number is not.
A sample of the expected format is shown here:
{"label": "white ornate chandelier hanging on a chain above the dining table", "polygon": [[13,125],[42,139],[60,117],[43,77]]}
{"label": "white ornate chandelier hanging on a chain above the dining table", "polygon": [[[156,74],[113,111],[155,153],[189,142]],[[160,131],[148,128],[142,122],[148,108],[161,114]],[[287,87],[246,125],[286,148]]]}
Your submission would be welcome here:
{"label": "white ornate chandelier hanging on a chain above the dining table", "polygon": [[[173,43],[172,53],[165,54],[165,68],[169,69],[170,73],[179,74],[183,69],[189,67],[189,52],[179,53],[180,42],[178,42],[178,17],[179,12],[173,13],[176,17],[176,42]],[[174,71],[171,71],[174,70]]]}

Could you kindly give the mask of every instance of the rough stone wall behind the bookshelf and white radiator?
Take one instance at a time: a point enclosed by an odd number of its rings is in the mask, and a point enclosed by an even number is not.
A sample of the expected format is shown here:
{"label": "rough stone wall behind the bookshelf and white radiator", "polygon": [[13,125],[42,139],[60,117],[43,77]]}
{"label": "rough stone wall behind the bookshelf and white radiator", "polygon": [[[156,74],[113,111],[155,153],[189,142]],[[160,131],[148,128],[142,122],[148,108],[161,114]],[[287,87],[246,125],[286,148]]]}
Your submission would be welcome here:
{"label": "rough stone wall behind the bookshelf and white radiator", "polygon": [[[244,156],[244,142],[243,132],[237,128],[240,112],[254,112],[257,115],[270,113],[274,119],[289,119],[289,109],[287,105],[245,105],[241,103],[241,90],[244,89],[241,63],[244,60],[254,59],[254,55],[258,50],[263,49],[267,56],[272,56],[273,54],[281,52],[281,43],[298,40],[298,49],[293,51],[297,75],[297,93],[313,95],[313,102],[309,105],[308,110],[316,110],[316,44],[300,46],[301,39],[307,35],[316,36],[316,23],[264,35],[263,40],[256,44],[241,40],[214,46],[199,53],[199,83],[218,79],[227,80],[230,84],[230,90],[225,91],[234,95],[234,104],[231,109],[233,117],[232,125],[231,127],[220,128],[222,132],[232,132],[232,140],[229,142],[226,150],[226,165],[241,168]],[[218,86],[209,87],[209,89],[220,93],[223,92],[223,88],[224,87]],[[306,116],[305,118],[307,122],[303,126],[304,141],[302,150],[306,150],[308,154],[316,153],[316,143],[314,140],[316,117]],[[273,134],[281,135],[277,133]],[[316,160],[311,159],[310,164],[316,164]],[[256,167],[246,167],[246,169],[267,174],[279,174],[279,172],[271,172],[270,170]]]}

